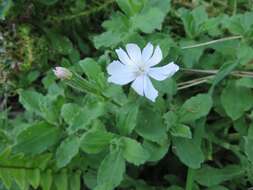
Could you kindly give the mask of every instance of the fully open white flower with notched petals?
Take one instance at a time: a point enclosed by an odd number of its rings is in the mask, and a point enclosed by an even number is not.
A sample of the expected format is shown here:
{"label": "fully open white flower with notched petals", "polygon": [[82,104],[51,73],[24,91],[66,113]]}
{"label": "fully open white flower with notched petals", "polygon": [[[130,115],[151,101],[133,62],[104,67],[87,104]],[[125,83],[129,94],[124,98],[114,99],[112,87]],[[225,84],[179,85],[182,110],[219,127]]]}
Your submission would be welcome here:
{"label": "fully open white flower with notched petals", "polygon": [[173,62],[162,67],[153,67],[162,60],[159,46],[154,50],[151,43],[141,49],[136,44],[127,44],[126,52],[116,50],[119,60],[113,61],[107,67],[110,77],[108,82],[125,85],[132,82],[131,87],[140,95],[155,101],[158,91],[154,88],[149,77],[162,81],[178,71],[178,65]]}

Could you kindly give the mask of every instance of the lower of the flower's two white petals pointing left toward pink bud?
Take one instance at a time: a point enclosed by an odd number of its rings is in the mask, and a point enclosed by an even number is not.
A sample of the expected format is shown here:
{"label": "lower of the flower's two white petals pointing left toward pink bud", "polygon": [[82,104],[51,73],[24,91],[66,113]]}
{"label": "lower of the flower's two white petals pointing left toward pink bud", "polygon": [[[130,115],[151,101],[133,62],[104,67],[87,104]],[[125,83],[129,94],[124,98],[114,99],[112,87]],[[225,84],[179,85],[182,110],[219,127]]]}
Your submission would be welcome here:
{"label": "lower of the flower's two white petals pointing left toward pink bud", "polygon": [[123,75],[122,74],[116,74],[112,75],[108,78],[108,82],[119,84],[119,85],[125,85],[130,82],[132,82],[136,78],[136,75],[132,72],[126,72]]}

